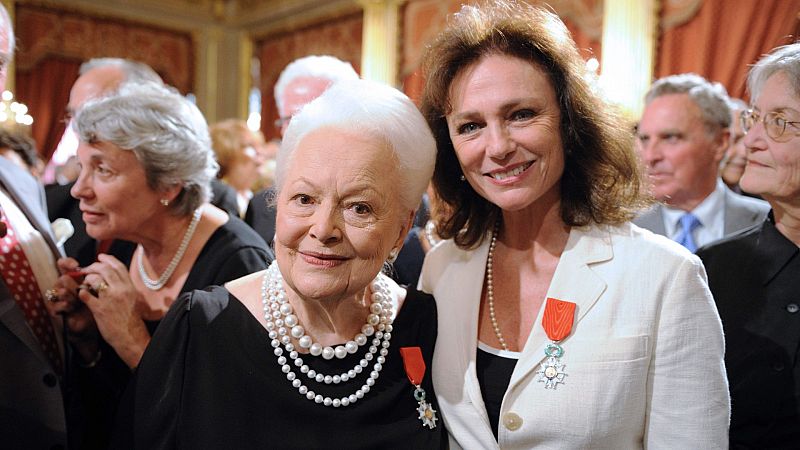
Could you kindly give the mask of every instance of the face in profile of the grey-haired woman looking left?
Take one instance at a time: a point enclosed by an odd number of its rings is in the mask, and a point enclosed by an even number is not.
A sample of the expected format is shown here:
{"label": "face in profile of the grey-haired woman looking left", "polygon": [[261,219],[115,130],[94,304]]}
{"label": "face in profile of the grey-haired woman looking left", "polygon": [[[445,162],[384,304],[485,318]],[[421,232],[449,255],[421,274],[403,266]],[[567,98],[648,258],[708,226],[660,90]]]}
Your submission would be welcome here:
{"label": "face in profile of the grey-haired woman looking left", "polygon": [[95,239],[139,242],[154,214],[164,212],[161,195],[147,185],[132,151],[109,143],[78,146],[80,175],[70,193],[80,200],[86,232]]}

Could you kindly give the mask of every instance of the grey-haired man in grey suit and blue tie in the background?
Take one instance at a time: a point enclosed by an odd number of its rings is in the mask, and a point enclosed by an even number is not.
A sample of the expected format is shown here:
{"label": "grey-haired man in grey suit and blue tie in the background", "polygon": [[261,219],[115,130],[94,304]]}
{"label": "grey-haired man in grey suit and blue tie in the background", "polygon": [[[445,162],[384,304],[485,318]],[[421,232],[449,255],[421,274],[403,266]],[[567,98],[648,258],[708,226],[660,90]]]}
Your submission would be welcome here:
{"label": "grey-haired man in grey suit and blue tie in the background", "polygon": [[695,74],[651,86],[637,138],[656,205],[634,220],[695,251],[760,223],[769,206],[731,191],[718,176],[731,112],[725,88]]}

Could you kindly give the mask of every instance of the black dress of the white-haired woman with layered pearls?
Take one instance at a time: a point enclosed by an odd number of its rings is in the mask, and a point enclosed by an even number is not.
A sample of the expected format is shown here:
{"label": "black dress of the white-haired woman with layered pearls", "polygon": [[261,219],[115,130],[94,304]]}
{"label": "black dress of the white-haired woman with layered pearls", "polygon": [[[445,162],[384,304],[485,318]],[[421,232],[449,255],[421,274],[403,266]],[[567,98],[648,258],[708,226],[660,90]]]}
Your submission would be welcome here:
{"label": "black dress of the white-haired woman with layered pearls", "polygon": [[[325,407],[292,387],[267,331],[236,297],[222,287],[195,291],[173,304],[153,336],[126,392],[113,448],[442,448],[447,435],[441,418],[433,430],[423,427],[399,353],[400,347],[418,346],[430,367],[435,340],[433,299],[409,291],[375,386],[355,404]],[[339,373],[365,351],[305,362]],[[319,394],[344,396],[363,384],[368,367],[340,385],[301,377]],[[423,388],[438,411],[430,370]]]}

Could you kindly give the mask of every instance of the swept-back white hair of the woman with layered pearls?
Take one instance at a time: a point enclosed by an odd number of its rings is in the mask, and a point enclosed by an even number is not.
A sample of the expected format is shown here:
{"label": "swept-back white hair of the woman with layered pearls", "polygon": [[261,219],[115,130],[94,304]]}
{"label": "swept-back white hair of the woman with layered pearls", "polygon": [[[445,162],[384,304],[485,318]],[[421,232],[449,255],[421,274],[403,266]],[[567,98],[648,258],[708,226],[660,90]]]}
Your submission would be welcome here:
{"label": "swept-back white hair of the woman with layered pearls", "polygon": [[436,164],[436,142],[416,105],[405,94],[367,80],[340,81],[292,118],[278,151],[276,191],[283,187],[292,154],[303,138],[321,128],[366,134],[385,140],[397,157],[386,170],[399,170],[403,205],[419,206]]}

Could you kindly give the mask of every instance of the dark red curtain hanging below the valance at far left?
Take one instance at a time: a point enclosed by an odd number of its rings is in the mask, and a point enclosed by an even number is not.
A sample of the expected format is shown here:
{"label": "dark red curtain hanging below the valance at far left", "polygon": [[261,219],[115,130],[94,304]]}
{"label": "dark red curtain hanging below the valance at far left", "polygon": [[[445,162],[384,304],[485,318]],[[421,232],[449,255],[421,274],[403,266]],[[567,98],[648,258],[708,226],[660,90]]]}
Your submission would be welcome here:
{"label": "dark red curtain hanging below the valance at far left", "polygon": [[35,118],[32,136],[45,161],[50,159],[64,133],[62,119],[80,65],[80,60],[53,58],[39,62],[33,70],[17,73],[17,98]]}

